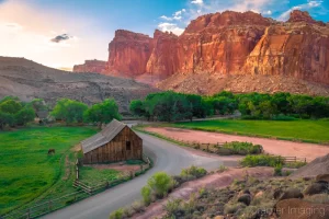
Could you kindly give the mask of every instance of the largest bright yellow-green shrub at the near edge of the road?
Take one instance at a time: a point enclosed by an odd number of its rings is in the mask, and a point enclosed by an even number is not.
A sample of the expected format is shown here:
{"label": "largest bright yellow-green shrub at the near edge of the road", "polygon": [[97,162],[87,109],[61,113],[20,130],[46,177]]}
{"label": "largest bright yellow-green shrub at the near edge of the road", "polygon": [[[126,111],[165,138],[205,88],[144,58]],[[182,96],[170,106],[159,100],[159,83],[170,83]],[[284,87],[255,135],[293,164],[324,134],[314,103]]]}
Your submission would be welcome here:
{"label": "largest bright yellow-green shrub at the near edge of the road", "polygon": [[164,172],[155,173],[147,182],[157,197],[163,197],[174,186],[173,178]]}

